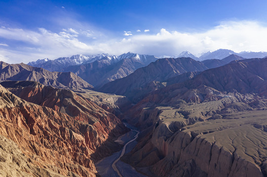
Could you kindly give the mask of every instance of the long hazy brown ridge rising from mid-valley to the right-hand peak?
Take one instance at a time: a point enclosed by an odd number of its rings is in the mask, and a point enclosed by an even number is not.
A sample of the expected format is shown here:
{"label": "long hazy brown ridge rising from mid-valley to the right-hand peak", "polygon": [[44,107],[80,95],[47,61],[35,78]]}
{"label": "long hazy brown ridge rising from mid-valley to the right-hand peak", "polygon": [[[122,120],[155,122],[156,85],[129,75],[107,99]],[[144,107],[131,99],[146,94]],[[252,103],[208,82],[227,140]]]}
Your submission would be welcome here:
{"label": "long hazy brown ridge rising from mid-valley to the right-hand peak", "polygon": [[240,59],[244,58],[233,54],[225,59],[204,61],[196,61],[191,58],[158,59],[146,67],[137,69],[127,77],[107,83],[98,90],[125,95],[132,101],[137,102],[155,89],[165,87],[175,81],[184,81],[185,78],[194,77],[199,73],[197,71],[223,66],[233,60]]}

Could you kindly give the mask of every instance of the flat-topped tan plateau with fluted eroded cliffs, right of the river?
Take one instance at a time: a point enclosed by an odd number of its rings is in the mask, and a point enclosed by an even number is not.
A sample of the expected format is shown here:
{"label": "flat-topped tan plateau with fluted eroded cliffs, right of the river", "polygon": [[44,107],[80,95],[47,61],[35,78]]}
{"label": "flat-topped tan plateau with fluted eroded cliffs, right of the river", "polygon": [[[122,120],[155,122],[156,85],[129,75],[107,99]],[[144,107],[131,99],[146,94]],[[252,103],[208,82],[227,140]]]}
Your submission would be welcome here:
{"label": "flat-topped tan plateau with fluted eroded cliffs, right of the river", "polygon": [[142,109],[136,120],[147,136],[123,160],[157,177],[266,176],[264,109],[236,97]]}

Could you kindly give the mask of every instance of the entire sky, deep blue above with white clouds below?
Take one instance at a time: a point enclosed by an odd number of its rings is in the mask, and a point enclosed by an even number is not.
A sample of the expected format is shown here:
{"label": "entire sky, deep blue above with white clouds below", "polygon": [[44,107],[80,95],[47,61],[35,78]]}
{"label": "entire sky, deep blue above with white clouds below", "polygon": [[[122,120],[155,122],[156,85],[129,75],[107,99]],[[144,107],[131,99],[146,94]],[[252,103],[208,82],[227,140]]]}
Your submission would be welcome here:
{"label": "entire sky, deep blue above with white clouds below", "polygon": [[266,0],[1,0],[0,60],[267,51]]}

